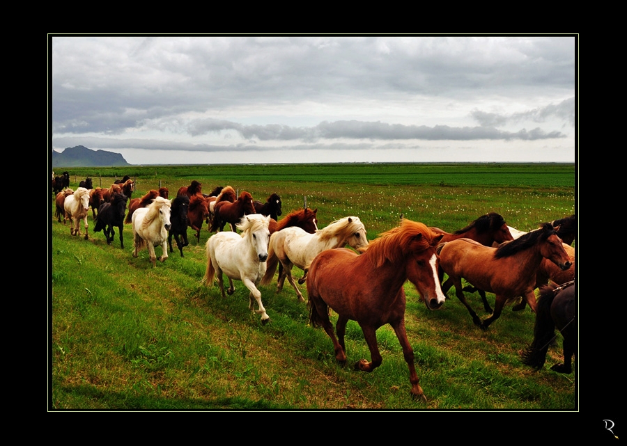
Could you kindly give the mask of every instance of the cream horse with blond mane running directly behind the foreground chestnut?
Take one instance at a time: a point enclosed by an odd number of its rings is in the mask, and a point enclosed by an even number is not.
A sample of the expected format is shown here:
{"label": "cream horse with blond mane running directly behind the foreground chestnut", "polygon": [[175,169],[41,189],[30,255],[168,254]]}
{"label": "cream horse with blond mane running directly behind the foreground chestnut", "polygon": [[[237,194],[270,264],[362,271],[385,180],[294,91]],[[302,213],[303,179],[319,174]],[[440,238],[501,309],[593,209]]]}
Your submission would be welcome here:
{"label": "cream horse with blond mane running directly behind the foreground chestnut", "polygon": [[283,271],[279,274],[277,293],[283,289],[287,277],[296,290],[298,300],[304,302],[292,277],[292,266],[296,265],[304,271],[304,276],[298,280],[298,283],[302,284],[307,280],[307,270],[316,255],[325,249],[341,248],[346,244],[357,250],[368,247],[366,228],[359,217],[341,218],[314,234],[309,234],[297,226],[274,232],[270,237],[270,246],[268,246],[268,268],[261,280],[261,285],[270,284],[274,271],[281,262]]}

